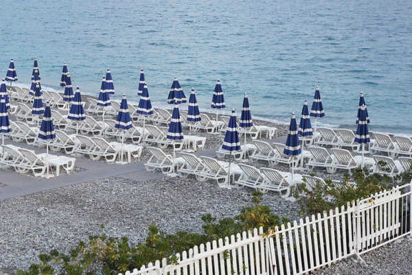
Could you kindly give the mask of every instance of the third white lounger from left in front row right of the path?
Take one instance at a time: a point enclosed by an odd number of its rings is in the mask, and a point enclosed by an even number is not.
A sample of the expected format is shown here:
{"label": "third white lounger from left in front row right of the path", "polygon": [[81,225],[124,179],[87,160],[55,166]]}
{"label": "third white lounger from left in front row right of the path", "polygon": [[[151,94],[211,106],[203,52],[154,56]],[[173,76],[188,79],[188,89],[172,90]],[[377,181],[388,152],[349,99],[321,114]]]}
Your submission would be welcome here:
{"label": "third white lounger from left in front row right of the path", "polygon": [[218,162],[216,159],[211,157],[201,157],[205,167],[198,173],[199,181],[206,181],[207,179],[212,179],[218,183],[219,187],[226,187],[229,184],[229,176],[233,176],[235,170],[239,170],[237,164],[231,164],[230,175],[229,175],[229,163]]}

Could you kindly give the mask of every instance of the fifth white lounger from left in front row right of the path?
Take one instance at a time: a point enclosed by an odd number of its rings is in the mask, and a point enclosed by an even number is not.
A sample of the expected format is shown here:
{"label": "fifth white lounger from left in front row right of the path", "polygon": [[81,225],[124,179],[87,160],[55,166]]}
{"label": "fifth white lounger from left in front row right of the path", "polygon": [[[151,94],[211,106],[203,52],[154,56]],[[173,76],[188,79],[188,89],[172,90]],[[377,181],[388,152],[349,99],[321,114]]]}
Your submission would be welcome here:
{"label": "fifth white lounger from left in front row right of the path", "polygon": [[281,172],[271,168],[260,168],[260,172],[264,175],[264,182],[258,187],[260,192],[275,191],[279,192],[282,198],[289,197],[290,187],[294,186],[294,181],[301,179],[301,175],[294,175],[288,172]]}

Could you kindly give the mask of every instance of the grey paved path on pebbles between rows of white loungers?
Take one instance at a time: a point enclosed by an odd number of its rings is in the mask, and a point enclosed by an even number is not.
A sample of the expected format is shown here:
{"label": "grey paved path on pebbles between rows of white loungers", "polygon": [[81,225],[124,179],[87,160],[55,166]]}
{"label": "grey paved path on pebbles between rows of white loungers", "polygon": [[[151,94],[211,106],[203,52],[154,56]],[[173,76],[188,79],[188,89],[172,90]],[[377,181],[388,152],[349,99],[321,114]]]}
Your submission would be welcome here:
{"label": "grey paved path on pebbles between rows of white loungers", "polygon": [[[268,142],[282,142],[284,143],[286,137],[279,137],[276,140],[266,140]],[[13,142],[12,140],[5,140],[5,144],[13,144],[22,148],[28,148],[36,151],[36,153],[45,153],[45,148],[34,147],[22,142]],[[52,154],[56,154],[52,152]],[[204,155],[207,157],[216,157],[216,148],[205,151],[198,151],[195,155]],[[106,177],[122,177],[133,181],[147,181],[150,179],[157,179],[164,175],[157,173],[149,173],[145,170],[143,162],[136,162],[125,165],[107,164],[102,161],[93,161],[84,157],[76,159],[76,167],[86,169],[84,172],[63,175],[54,177],[52,179],[37,179],[20,173],[14,170],[0,169],[0,184],[5,186],[0,187],[0,199],[7,199],[10,197],[19,197],[29,195],[43,190],[53,188],[60,188],[62,186],[69,186],[72,184],[80,184],[88,181],[95,181],[104,179]]]}

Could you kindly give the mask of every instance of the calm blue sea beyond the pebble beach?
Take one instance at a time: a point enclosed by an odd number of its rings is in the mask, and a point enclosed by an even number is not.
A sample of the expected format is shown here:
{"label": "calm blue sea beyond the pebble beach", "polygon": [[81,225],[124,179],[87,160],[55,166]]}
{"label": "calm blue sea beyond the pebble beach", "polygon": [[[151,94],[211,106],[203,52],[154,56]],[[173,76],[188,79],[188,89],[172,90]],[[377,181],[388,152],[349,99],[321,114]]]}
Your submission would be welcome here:
{"label": "calm blue sea beyond the pebble beach", "polygon": [[247,92],[255,118],[284,123],[319,85],[321,124],[355,129],[363,91],[369,129],[412,134],[410,0],[26,0],[1,11],[0,69],[14,58],[21,85],[37,56],[43,88],[62,91],[66,61],[73,86],[98,96],[110,67],[115,99],[137,102],[143,67],[155,107],[177,76],[211,111],[220,78],[225,111],[240,113]]}

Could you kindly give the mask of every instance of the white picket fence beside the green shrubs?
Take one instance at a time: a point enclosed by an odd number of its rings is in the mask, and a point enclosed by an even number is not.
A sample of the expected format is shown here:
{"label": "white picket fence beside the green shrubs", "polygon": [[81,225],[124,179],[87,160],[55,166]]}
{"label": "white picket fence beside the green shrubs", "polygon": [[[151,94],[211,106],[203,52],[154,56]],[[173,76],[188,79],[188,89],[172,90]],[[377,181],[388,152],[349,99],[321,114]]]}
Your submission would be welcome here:
{"label": "white picket fence beside the green shrubs", "polygon": [[[129,275],[306,274],[347,256],[369,252],[411,233],[411,184],[396,186],[341,209],[275,228],[262,228],[195,246]],[[121,275],[121,274],[119,274]]]}

